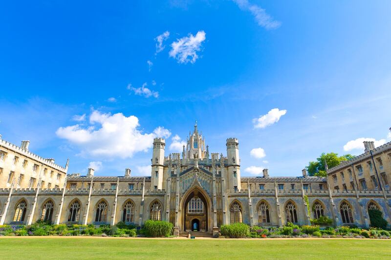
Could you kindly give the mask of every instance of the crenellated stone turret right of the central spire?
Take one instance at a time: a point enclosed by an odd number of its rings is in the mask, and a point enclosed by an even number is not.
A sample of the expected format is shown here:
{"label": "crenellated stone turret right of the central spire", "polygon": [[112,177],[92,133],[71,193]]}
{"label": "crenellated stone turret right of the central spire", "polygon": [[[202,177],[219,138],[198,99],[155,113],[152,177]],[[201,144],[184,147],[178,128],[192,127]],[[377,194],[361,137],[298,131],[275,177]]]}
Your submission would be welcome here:
{"label": "crenellated stone turret right of the central spire", "polygon": [[241,190],[239,141],[237,138],[228,138],[226,145],[229,188]]}

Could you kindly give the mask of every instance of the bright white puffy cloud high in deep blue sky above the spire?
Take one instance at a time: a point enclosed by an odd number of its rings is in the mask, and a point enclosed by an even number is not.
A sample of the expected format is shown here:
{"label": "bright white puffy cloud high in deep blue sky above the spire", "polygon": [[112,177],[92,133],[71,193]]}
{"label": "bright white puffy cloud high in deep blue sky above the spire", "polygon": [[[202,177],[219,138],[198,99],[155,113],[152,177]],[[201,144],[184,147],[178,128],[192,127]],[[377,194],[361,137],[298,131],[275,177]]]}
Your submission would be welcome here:
{"label": "bright white puffy cloud high in deep blue sky above the spire", "polygon": [[205,40],[205,32],[198,31],[195,36],[189,34],[181,39],[171,43],[170,57],[173,57],[178,63],[194,63],[198,59],[197,51],[201,50],[201,44]]}

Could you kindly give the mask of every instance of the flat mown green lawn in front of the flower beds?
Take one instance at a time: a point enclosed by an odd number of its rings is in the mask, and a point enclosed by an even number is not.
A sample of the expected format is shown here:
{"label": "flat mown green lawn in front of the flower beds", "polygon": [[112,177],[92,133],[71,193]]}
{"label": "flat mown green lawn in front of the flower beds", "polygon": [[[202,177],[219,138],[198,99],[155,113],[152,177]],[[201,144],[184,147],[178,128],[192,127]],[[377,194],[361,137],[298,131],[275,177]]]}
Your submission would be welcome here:
{"label": "flat mown green lawn in front of the flower beds", "polygon": [[390,259],[391,240],[0,238],[1,259]]}

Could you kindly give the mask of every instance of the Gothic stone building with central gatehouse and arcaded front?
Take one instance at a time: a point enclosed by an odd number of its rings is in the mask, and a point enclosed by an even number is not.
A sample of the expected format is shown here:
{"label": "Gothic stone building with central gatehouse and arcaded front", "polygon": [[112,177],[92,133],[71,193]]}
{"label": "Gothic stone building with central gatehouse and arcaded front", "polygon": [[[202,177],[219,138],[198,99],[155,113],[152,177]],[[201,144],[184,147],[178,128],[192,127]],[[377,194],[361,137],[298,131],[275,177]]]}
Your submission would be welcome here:
{"label": "Gothic stone building with central gatehouse and arcaded front", "polygon": [[[375,160],[380,155],[382,172],[390,176],[391,161],[383,159],[387,153],[376,152],[386,146],[391,143],[371,151]],[[356,189],[354,185],[336,189],[330,176],[345,171],[344,165],[356,167],[356,159],[344,162],[338,170],[329,169],[328,179],[309,177],[305,170],[299,177],[271,177],[268,169],[261,177],[241,177],[238,139],[228,138],[226,147],[225,156],[210,153],[195,124],[182,153],[166,156],[165,140],[154,139],[150,177],[133,177],[130,169],[120,177],[94,176],[94,170],[88,169],[87,176],[68,175],[60,188],[11,184],[0,189],[0,224],[48,220],[142,225],[152,219],[172,222],[174,235],[179,235],[215,233],[220,225],[234,222],[282,226],[309,224],[310,219],[327,216],[334,225],[368,227],[371,208],[381,210],[384,219],[391,221],[389,190]]]}

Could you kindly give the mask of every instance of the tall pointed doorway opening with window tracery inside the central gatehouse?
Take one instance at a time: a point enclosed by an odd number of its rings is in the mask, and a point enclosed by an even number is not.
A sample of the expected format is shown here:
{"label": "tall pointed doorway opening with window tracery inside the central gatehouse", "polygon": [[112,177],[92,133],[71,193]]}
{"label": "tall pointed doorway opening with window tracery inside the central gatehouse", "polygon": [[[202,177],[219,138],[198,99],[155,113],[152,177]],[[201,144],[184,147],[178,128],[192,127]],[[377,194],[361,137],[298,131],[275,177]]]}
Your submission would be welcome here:
{"label": "tall pointed doorway opening with window tracery inside the central gatehouse", "polygon": [[193,190],[184,200],[183,230],[208,231],[208,201],[198,189]]}

